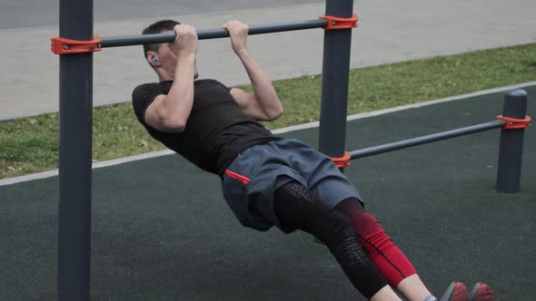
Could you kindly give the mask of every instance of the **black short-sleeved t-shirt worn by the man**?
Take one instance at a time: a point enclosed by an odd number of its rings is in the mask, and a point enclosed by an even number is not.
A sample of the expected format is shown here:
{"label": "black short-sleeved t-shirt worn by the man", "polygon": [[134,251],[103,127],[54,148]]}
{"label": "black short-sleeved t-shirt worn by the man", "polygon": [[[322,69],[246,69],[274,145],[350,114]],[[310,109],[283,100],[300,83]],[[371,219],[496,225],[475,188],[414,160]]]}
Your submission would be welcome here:
{"label": "black short-sleeved t-shirt worn by the man", "polygon": [[134,112],[155,140],[201,169],[221,175],[240,151],[280,139],[242,111],[230,88],[213,80],[194,82],[194,104],[184,131],[152,128],[145,123],[145,111],[156,96],[167,94],[172,84],[168,81],[137,86],[133,92]]}

